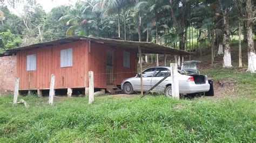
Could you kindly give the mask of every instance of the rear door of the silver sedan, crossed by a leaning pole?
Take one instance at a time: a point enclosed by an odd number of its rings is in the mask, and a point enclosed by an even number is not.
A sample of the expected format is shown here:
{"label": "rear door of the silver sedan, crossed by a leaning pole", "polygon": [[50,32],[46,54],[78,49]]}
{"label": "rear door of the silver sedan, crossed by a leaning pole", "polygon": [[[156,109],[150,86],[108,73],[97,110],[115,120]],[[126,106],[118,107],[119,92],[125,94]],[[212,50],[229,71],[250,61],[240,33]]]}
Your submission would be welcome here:
{"label": "rear door of the silver sedan, crossed by a leaning pole", "polygon": [[[162,80],[166,75],[170,74],[171,71],[168,68],[156,68],[155,74],[151,80],[151,87],[157,84],[160,80]],[[164,92],[165,86],[171,83],[171,76],[167,77],[163,82],[157,85],[156,88],[153,89],[154,92]]]}

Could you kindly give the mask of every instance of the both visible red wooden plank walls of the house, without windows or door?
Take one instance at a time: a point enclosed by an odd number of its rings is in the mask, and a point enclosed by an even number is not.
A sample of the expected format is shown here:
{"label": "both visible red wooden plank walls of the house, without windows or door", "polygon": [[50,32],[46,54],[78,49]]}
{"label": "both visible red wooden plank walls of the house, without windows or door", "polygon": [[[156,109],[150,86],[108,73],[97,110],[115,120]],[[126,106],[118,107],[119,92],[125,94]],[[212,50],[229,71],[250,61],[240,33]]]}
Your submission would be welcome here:
{"label": "both visible red wooden plank walls of the house, without windows or door", "polygon": [[[114,53],[113,84],[119,85],[125,78],[137,74],[136,51],[122,47],[111,47],[91,42],[91,52],[86,41],[32,49],[17,52],[17,77],[20,78],[19,89],[49,89],[50,77],[54,74],[55,88],[88,87],[88,72],[94,72],[95,88],[106,88],[106,53]],[[60,50],[72,48],[72,67],[60,68]],[[123,52],[130,52],[130,68],[123,67]],[[36,54],[37,69],[26,71],[26,55]]]}

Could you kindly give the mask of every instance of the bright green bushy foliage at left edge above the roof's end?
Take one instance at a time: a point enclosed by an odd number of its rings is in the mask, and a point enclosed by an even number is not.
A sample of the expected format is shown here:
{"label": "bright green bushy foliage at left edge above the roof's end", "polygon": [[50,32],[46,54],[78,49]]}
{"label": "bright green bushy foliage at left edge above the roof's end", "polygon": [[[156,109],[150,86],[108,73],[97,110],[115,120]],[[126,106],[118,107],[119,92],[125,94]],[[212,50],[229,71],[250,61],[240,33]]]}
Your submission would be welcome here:
{"label": "bright green bushy foliage at left edge above the roof's end", "polygon": [[[17,47],[21,44],[21,38],[12,34],[10,30],[0,33],[0,50],[2,52],[6,49]],[[0,51],[1,52],[1,51]]]}

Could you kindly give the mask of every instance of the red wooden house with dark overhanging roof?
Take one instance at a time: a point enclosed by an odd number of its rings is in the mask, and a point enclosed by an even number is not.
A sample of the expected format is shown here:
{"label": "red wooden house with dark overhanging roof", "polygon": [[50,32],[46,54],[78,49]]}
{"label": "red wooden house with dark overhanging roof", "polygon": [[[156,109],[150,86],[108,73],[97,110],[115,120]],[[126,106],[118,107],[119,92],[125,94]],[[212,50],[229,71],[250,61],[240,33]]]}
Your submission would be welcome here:
{"label": "red wooden house with dark overhanging roof", "polygon": [[51,74],[55,89],[88,88],[88,72],[94,72],[95,88],[116,87],[137,74],[138,47],[143,53],[188,54],[151,42],[99,37],[69,37],[6,51],[17,56],[19,90],[49,89]]}

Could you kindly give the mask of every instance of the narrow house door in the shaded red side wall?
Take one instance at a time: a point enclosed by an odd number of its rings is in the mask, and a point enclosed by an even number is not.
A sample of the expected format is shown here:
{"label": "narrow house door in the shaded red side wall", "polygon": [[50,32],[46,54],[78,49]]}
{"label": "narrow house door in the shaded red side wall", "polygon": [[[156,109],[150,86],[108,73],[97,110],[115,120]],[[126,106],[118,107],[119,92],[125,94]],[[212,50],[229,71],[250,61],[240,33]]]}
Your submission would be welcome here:
{"label": "narrow house door in the shaded red side wall", "polygon": [[106,80],[107,85],[113,84],[113,72],[114,72],[114,58],[113,58],[113,51],[107,51],[106,56]]}

